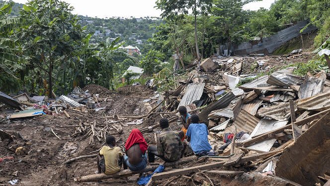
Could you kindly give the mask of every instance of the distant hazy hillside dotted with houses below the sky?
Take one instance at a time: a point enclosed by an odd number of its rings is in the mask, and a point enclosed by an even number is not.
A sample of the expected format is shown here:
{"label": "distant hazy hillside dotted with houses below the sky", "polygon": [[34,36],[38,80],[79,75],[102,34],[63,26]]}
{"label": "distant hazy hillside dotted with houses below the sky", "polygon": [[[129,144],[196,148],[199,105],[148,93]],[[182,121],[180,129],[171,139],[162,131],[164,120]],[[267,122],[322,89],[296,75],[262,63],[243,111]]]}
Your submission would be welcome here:
{"label": "distant hazy hillside dotted with houses below the sky", "polygon": [[[0,0],[0,3],[4,2]],[[18,16],[20,8],[23,4],[15,2],[10,15]],[[120,37],[120,41],[126,41],[125,46],[138,46],[142,54],[145,54],[150,49],[150,43],[147,41],[152,38],[156,26],[161,22],[157,17],[109,17],[97,18],[79,15],[82,26],[86,26],[86,32],[92,34],[94,42],[105,41],[107,37],[114,40]]]}

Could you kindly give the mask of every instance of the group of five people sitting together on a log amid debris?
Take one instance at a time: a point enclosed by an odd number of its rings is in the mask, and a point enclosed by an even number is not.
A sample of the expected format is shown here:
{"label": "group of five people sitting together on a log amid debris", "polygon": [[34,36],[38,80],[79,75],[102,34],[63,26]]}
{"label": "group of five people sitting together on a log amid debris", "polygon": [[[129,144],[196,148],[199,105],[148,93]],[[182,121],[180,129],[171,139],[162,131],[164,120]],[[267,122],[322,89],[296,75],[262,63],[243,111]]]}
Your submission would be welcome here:
{"label": "group of five people sitting together on a log amid debris", "polygon": [[[183,157],[186,147],[196,156],[214,156],[214,151],[208,142],[208,130],[204,123],[199,123],[197,114],[190,115],[184,106],[178,108],[182,129],[177,132],[169,127],[166,118],[159,121],[162,132],[158,135],[157,145],[148,145],[139,129],[132,129],[125,143],[125,153],[116,147],[112,135],[106,137],[107,146],[103,146],[97,155],[98,173],[114,174],[129,168],[131,171],[142,171],[148,161],[155,162],[159,157],[165,162],[174,162]],[[147,154],[148,153],[148,154]],[[148,160],[147,160],[148,158]]]}

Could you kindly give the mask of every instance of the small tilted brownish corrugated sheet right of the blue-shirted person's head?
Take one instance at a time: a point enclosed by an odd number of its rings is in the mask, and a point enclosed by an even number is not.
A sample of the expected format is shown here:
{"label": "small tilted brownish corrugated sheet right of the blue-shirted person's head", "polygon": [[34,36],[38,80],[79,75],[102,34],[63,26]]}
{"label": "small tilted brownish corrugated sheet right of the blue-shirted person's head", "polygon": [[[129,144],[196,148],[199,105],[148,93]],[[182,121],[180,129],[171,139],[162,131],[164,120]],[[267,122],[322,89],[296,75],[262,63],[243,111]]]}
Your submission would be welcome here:
{"label": "small tilted brownish corrugated sheet right of the blue-shirted person's head", "polygon": [[[249,114],[246,110],[241,109],[240,113],[235,118],[233,125],[236,125],[237,132],[248,132],[250,133],[260,120],[255,116]],[[229,127],[229,131],[234,131],[234,126]]]}

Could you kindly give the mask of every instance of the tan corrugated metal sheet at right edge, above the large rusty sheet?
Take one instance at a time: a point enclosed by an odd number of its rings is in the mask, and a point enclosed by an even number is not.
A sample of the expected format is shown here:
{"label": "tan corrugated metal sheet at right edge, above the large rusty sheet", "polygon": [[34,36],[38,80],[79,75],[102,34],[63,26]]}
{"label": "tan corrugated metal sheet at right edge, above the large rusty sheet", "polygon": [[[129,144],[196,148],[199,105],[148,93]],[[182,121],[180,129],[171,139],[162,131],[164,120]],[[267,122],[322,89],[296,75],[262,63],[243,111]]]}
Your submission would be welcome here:
{"label": "tan corrugated metal sheet at right edge, above the large rusty sheet", "polygon": [[317,94],[305,99],[299,99],[297,107],[306,110],[326,110],[330,108],[330,92]]}

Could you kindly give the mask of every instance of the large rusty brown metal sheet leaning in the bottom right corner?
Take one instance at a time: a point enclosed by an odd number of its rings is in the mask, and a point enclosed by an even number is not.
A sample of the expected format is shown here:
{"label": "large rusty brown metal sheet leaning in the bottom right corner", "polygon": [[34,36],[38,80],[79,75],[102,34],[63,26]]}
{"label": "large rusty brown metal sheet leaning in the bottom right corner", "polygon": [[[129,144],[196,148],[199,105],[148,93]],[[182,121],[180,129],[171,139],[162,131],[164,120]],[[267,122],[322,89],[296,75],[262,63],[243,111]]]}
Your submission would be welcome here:
{"label": "large rusty brown metal sheet leaning in the bottom right corner", "polygon": [[330,172],[330,113],[325,114],[288,147],[276,163],[277,176],[303,186],[319,183]]}

